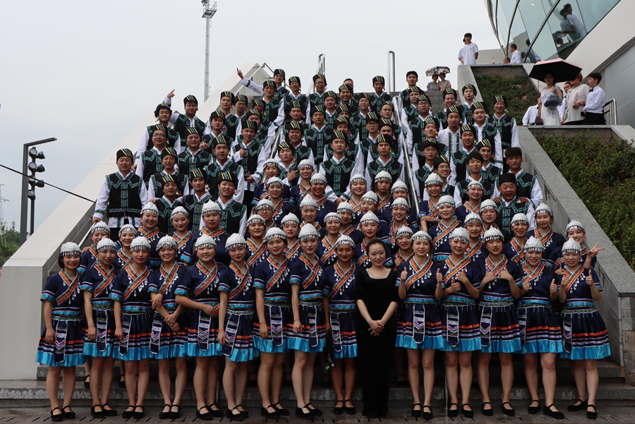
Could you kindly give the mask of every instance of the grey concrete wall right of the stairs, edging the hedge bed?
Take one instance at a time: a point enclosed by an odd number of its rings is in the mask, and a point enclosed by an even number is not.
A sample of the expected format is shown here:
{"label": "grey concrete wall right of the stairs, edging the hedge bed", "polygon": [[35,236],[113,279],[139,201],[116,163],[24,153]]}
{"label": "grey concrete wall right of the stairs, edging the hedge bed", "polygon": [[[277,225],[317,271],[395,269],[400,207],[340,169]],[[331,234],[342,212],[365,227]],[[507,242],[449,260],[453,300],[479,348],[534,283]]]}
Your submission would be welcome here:
{"label": "grey concrete wall right of the stairs, edging the hedge bed", "polygon": [[[586,246],[600,243],[600,246],[605,248],[598,255],[595,267],[604,288],[602,298],[597,303],[598,310],[609,330],[611,359],[624,367],[627,383],[635,384],[635,272],[534,138],[534,135],[565,135],[568,131],[587,129],[519,127],[524,169],[538,177],[544,201],[554,212],[554,231],[564,233],[567,223],[571,219],[577,219],[586,227]],[[630,127],[617,126],[611,129],[616,136],[635,138],[635,131]],[[600,131],[603,132],[605,131]]]}

